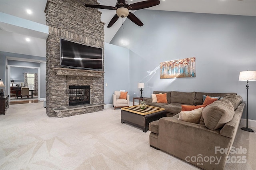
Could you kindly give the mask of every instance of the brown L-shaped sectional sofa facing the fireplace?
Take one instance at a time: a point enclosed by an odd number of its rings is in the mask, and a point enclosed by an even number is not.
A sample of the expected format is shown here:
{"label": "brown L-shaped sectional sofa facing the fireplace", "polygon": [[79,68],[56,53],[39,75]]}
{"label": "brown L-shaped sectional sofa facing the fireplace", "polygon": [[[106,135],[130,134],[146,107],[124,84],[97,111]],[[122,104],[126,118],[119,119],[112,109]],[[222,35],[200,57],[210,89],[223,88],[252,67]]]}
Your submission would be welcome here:
{"label": "brown L-shaped sectional sofa facing the fireplace", "polygon": [[[150,102],[152,99],[148,99],[146,104],[165,108],[169,117],[150,123],[150,146],[202,169],[224,169],[242,114],[246,110],[244,109],[246,102],[242,97],[236,93],[177,91],[154,91],[154,93],[167,93],[168,103],[152,103]],[[223,97],[223,99],[219,98],[202,107],[198,124],[180,120],[180,114],[184,113],[181,112],[181,105],[202,105],[203,95]]]}

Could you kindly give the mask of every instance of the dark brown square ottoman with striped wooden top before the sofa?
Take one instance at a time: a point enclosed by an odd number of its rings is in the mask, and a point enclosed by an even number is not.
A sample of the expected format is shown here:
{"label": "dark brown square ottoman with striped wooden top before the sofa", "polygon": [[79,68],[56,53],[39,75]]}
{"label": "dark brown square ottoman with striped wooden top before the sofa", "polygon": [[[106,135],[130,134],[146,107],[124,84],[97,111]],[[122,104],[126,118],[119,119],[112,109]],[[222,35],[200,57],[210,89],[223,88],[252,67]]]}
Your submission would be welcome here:
{"label": "dark brown square ottoman with striped wooden top before the sofa", "polygon": [[[130,107],[126,107],[126,108],[130,108]],[[126,109],[126,108],[123,108],[123,109]],[[165,110],[156,111],[154,113],[148,113],[147,115],[140,115],[140,113],[132,113],[131,111],[126,111],[126,110],[121,111],[121,123],[128,123],[138,128],[142,128],[143,132],[148,131],[148,124],[150,122],[157,121],[162,117],[166,117]]]}

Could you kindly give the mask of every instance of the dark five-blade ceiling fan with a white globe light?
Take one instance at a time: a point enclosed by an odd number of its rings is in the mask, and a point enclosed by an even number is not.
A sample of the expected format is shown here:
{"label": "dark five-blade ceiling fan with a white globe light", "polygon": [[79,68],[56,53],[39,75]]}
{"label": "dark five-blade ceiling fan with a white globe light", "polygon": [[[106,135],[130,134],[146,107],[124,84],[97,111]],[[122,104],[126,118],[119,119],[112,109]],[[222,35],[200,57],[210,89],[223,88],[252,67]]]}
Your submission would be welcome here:
{"label": "dark five-blade ceiling fan with a white globe light", "polygon": [[137,24],[138,26],[143,26],[143,23],[137,18],[132,12],[129,12],[129,10],[140,10],[144,8],[149,8],[152,6],[156,6],[160,4],[160,0],[146,0],[142,2],[136,2],[133,4],[129,4],[126,0],[117,0],[116,7],[114,6],[105,6],[105,5],[92,5],[92,4],[85,4],[84,6],[90,7],[90,8],[100,8],[100,9],[106,9],[106,10],[116,10],[116,15],[110,20],[108,24],[108,28],[110,28],[115,22],[118,20],[118,18],[125,18],[127,17],[132,22]]}

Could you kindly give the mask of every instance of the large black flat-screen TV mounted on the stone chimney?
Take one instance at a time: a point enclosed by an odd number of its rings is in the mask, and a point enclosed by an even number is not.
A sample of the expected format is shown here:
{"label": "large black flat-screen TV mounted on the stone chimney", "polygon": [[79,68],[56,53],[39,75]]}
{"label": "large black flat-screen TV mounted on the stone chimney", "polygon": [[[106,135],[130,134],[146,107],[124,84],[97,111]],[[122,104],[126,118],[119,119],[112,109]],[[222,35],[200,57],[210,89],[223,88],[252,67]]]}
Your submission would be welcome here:
{"label": "large black flat-screen TV mounted on the stone chimney", "polygon": [[60,66],[77,69],[103,69],[102,48],[60,39]]}

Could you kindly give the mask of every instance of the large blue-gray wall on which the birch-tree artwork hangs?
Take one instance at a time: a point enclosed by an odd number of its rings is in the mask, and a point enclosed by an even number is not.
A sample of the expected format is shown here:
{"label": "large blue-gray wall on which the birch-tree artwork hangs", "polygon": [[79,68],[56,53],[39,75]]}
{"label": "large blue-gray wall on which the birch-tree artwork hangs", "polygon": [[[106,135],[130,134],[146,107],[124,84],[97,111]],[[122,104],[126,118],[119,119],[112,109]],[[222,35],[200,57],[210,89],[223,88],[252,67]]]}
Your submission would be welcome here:
{"label": "large blue-gray wall on which the birch-tree artwork hangs", "polygon": [[[256,70],[256,17],[138,10],[144,23],[138,27],[124,22],[111,44],[130,49],[130,88],[139,96],[138,82],[144,82],[143,96],[154,90],[236,92],[246,100],[246,82],[240,71]],[[196,77],[160,79],[160,62],[196,57]],[[250,81],[249,119],[256,120],[256,81]],[[130,101],[132,101],[130,99]]]}

